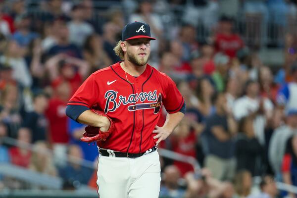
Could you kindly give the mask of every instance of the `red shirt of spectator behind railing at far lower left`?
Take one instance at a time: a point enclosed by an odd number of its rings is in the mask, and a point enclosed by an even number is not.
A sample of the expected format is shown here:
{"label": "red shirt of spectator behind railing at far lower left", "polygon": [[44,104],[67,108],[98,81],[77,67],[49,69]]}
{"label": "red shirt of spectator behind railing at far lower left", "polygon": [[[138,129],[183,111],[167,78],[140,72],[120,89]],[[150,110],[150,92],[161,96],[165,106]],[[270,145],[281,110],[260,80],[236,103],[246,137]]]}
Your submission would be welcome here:
{"label": "red shirt of spectator behind railing at far lower left", "polygon": [[22,153],[17,147],[12,147],[9,149],[10,162],[17,166],[22,166],[25,168],[29,167],[31,160],[31,151],[27,150],[26,153]]}

